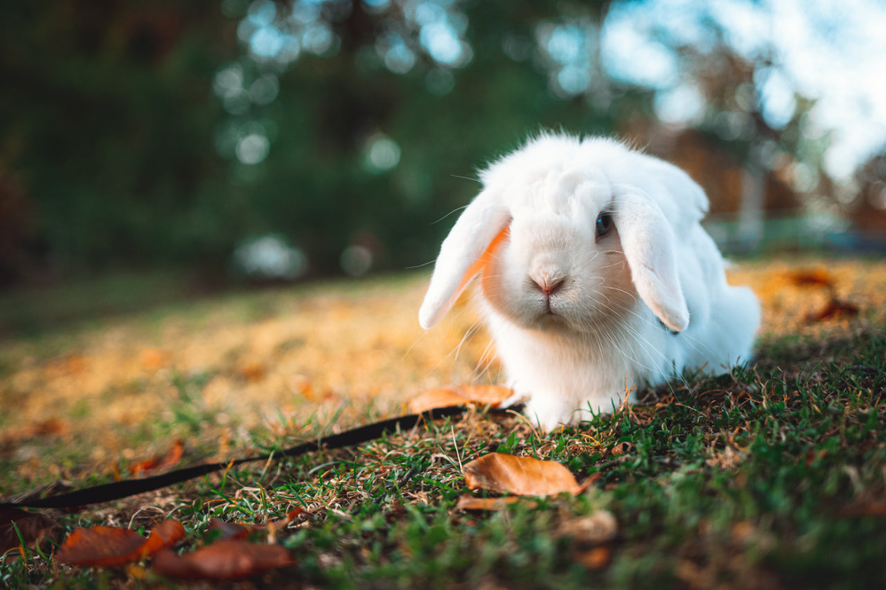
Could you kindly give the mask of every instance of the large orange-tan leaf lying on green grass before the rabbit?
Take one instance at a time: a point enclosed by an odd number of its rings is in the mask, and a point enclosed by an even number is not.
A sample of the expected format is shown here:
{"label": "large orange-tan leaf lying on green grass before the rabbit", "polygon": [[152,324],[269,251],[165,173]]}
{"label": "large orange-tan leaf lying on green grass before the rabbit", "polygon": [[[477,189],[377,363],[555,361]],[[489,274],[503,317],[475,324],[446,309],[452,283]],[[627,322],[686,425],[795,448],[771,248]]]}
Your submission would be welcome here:
{"label": "large orange-tan leaf lying on green grass before the rabbit", "polygon": [[579,485],[563,463],[503,453],[485,454],[465,464],[463,472],[471,490],[521,496],[550,496],[563,492],[576,495],[590,483],[586,481]]}

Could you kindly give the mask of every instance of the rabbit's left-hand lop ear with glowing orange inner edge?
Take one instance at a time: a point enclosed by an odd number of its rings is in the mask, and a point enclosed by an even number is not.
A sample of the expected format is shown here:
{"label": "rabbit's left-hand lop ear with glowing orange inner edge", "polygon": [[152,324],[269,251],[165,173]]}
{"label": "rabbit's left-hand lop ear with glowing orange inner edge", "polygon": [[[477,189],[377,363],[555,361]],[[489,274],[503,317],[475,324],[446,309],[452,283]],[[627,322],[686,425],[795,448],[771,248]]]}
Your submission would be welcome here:
{"label": "rabbit's left-hand lop ear with glowing orange inner edge", "polygon": [[418,322],[430,330],[453,306],[470,280],[492,259],[494,250],[508,236],[510,215],[493,193],[481,192],[443,240],[431,285],[418,310]]}

